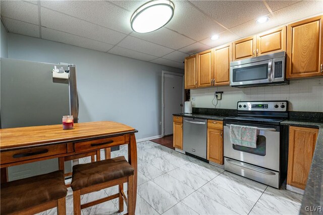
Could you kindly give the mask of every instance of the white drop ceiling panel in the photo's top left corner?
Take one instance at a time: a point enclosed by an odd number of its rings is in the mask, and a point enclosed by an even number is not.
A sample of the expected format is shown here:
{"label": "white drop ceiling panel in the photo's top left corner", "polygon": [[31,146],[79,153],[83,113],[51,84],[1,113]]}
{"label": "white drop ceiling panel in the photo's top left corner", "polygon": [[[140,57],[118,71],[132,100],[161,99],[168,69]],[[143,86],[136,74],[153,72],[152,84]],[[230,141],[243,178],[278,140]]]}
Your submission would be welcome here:
{"label": "white drop ceiling panel in the photo's top left corner", "polygon": [[38,21],[38,6],[21,1],[1,1],[1,16],[35,25]]}

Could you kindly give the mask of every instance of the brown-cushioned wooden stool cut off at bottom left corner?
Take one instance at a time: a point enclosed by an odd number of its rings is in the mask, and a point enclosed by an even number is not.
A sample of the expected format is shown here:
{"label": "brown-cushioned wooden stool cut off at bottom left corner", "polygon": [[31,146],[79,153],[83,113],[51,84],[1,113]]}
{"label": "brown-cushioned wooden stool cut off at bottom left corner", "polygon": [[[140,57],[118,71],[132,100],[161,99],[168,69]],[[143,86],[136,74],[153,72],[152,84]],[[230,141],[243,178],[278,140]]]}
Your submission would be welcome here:
{"label": "brown-cushioned wooden stool cut off at bottom left corner", "polygon": [[1,211],[4,214],[35,214],[57,207],[66,214],[67,188],[62,170],[1,184]]}

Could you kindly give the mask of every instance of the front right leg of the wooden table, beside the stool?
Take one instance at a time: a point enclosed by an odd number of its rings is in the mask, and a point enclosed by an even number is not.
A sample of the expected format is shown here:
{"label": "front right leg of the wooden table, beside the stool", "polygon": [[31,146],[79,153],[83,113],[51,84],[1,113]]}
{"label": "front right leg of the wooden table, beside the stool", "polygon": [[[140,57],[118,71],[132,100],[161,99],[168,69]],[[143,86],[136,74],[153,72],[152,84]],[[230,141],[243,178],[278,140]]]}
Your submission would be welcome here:
{"label": "front right leg of the wooden table, beside the stool", "polygon": [[128,161],[129,164],[135,169],[133,175],[133,208],[136,210],[137,201],[137,143],[135,134],[130,134],[130,143],[128,144]]}

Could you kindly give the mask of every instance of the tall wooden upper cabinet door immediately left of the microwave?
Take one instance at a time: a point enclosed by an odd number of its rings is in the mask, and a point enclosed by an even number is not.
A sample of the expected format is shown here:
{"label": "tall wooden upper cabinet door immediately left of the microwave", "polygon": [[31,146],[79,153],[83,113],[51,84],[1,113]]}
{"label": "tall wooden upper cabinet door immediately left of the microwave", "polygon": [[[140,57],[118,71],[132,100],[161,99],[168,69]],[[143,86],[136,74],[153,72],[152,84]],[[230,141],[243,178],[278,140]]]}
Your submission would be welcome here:
{"label": "tall wooden upper cabinet door immediately left of the microwave", "polygon": [[232,61],[232,43],[213,49],[213,86],[230,85],[230,62]]}

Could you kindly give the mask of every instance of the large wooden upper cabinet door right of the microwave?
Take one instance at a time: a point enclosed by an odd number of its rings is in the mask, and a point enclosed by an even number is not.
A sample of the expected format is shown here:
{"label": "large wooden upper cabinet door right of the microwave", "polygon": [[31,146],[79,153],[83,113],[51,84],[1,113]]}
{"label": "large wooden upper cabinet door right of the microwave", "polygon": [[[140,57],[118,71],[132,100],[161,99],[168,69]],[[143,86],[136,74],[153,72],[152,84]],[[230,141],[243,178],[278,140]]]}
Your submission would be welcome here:
{"label": "large wooden upper cabinet door right of the microwave", "polygon": [[322,18],[318,16],[287,26],[287,78],[323,75]]}

